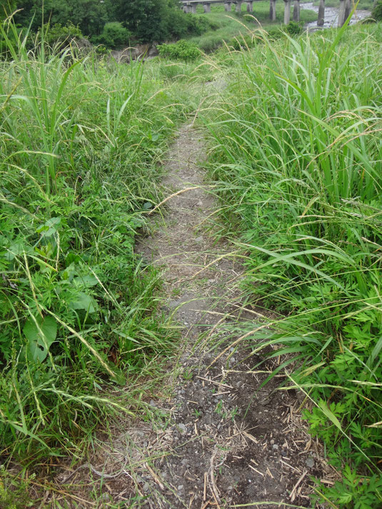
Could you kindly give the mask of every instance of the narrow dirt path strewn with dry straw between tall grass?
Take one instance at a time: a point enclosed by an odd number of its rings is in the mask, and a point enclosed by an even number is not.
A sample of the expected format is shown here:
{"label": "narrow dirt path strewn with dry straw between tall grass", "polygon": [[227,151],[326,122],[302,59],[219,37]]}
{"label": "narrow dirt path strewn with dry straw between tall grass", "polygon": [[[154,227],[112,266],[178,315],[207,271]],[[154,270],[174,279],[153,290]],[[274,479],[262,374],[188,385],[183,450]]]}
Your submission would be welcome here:
{"label": "narrow dirt path strewn with dry straw between tall grass", "polygon": [[[318,444],[301,425],[301,400],[276,390],[280,377],[261,387],[274,366],[253,369],[259,358],[248,356],[251,346],[230,348],[236,336],[227,324],[262,318],[241,309],[241,265],[213,233],[218,201],[204,185],[205,159],[201,133],[181,128],[164,186],[169,196],[188,191],[167,201],[165,216],[153,214],[152,233],[137,247],[164,271],[164,312],[183,326],[183,342],[178,366],[169,367],[171,397],[150,401],[169,415],[164,424],[121,422],[112,443],[99,437],[90,475],[101,507],[307,507],[310,476],[325,475]],[[94,465],[102,465],[101,481]],[[71,482],[80,485],[81,478],[83,470]]]}

